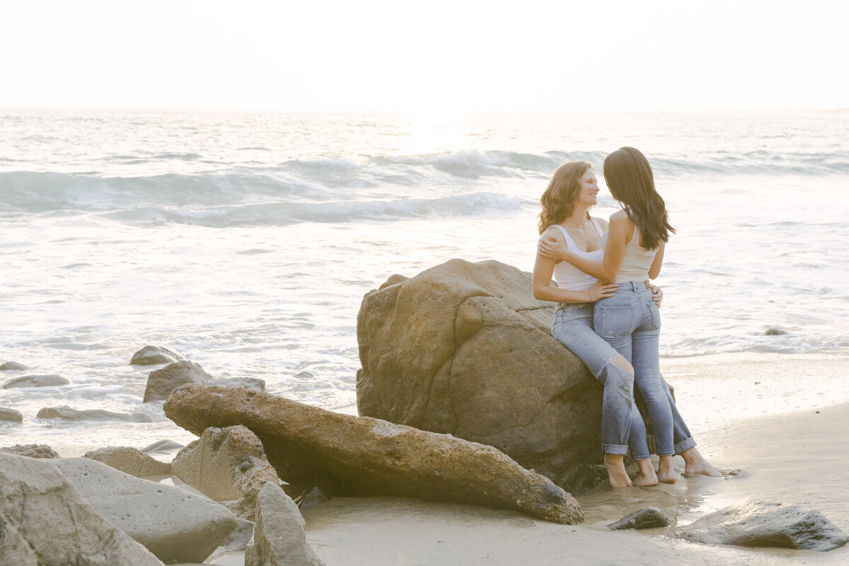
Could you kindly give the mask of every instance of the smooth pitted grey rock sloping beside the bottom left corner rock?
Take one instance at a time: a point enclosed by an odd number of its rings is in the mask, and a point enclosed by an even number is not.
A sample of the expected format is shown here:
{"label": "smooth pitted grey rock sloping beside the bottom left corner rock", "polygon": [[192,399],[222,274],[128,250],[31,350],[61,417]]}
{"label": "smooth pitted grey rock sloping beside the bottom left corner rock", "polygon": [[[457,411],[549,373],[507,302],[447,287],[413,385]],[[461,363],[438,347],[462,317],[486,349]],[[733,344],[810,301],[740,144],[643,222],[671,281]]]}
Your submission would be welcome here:
{"label": "smooth pitted grey rock sloping beside the bottom left corner rock", "polygon": [[177,487],[134,478],[88,458],[55,462],[98,515],[162,562],[203,562],[238,524],[227,508]]}

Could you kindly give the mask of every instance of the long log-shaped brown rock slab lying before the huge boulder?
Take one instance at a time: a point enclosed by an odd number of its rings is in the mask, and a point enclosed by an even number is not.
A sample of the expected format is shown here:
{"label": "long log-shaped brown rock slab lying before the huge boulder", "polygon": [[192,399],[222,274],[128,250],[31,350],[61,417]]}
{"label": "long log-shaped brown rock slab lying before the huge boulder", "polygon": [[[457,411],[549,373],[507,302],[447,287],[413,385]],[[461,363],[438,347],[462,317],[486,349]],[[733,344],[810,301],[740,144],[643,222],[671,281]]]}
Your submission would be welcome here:
{"label": "long log-shaped brown rock slab lying before the huge boulder", "polygon": [[583,520],[575,499],[493,448],[371,417],[351,417],[247,389],[184,385],[165,403],[183,429],[244,424],[280,479],[332,495],[419,497]]}

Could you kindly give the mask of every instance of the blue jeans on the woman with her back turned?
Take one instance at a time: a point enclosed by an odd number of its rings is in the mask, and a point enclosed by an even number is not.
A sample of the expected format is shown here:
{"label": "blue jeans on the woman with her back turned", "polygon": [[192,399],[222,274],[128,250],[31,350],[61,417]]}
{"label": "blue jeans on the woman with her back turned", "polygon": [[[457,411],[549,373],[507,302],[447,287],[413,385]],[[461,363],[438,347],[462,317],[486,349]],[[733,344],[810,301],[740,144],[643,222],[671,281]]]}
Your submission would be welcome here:
{"label": "blue jeans on the woman with her back turned", "polygon": [[[619,283],[612,297],[596,302],[593,326],[599,336],[631,362],[654,429],[657,453],[671,456],[695,446],[661,375],[658,357],[661,313],[645,283]],[[640,459],[636,455],[634,458]]]}

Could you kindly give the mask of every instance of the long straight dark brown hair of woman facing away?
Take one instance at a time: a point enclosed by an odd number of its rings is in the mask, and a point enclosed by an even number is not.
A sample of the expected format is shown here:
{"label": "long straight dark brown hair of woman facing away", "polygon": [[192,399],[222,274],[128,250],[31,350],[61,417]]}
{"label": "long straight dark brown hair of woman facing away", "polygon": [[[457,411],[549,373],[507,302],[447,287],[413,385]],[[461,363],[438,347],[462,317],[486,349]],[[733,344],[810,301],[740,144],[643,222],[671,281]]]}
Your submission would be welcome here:
{"label": "long straight dark brown hair of woman facing away", "polygon": [[620,148],[605,157],[604,182],[638,228],[643,249],[657,249],[669,241],[675,228],[669,224],[666,203],[655,190],[655,176],[644,154]]}

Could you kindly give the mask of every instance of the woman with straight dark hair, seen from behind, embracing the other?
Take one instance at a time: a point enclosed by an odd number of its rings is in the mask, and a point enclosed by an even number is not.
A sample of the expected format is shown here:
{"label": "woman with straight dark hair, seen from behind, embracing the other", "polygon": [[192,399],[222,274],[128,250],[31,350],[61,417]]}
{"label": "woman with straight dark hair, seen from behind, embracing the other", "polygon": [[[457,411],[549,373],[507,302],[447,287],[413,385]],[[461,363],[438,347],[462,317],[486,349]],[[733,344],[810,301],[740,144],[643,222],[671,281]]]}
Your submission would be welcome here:
{"label": "woman with straight dark hair, seen from behind, embracing the other", "polygon": [[[600,243],[603,255],[588,257],[544,237],[539,255],[549,261],[568,262],[599,281],[616,283],[616,289],[599,297],[594,305],[593,328],[632,364],[655,434],[660,457],[657,479],[675,482],[672,456],[676,453],[684,458],[685,474],[718,476],[717,470],[695,449],[695,441],[660,372],[661,315],[652,300],[649,279],[661,272],[666,241],[675,230],[669,224],[666,205],[655,190],[651,166],[637,149],[621,148],[604,160],[604,181],[622,210],[610,216],[609,230]],[[632,453],[635,459],[643,456],[633,450]]]}

